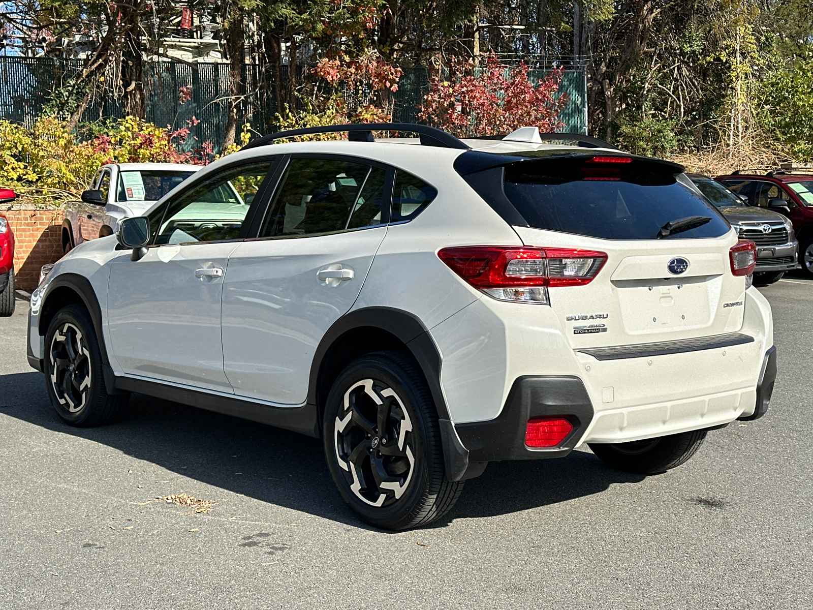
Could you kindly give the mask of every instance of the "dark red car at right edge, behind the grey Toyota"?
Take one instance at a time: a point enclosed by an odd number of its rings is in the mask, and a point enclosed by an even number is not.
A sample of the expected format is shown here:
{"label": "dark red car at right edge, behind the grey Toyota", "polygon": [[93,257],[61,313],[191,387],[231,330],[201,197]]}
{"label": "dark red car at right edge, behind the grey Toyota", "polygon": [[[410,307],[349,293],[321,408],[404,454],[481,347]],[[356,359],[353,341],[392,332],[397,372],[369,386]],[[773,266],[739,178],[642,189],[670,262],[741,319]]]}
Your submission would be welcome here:
{"label": "dark red car at right edge, behind the grey Toyota", "polygon": [[813,171],[774,170],[766,174],[737,170],[728,176],[717,176],[752,206],[778,211],[793,223],[799,242],[799,264],[807,277],[813,278]]}

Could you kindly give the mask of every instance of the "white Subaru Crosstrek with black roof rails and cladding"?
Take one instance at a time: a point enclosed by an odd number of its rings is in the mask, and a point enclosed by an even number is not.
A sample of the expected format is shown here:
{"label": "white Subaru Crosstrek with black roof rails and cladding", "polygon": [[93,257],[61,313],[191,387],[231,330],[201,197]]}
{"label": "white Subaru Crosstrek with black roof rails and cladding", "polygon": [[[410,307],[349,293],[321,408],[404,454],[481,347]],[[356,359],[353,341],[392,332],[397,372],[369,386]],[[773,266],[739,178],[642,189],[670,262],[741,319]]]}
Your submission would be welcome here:
{"label": "white Subaru Crosstrek with black roof rails and cladding", "polygon": [[259,138],[44,268],[29,362],[71,425],[139,392],[321,437],[387,529],[490,461],[674,468],[771,399],[754,243],[680,165],[543,137]]}

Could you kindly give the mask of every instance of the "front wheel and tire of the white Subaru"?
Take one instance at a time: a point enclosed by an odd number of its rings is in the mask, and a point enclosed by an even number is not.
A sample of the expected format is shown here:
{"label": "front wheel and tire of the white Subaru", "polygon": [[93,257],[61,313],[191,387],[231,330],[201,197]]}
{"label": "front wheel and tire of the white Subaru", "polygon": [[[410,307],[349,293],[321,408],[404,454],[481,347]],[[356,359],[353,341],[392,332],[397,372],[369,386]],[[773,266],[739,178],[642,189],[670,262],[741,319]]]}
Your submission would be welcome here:
{"label": "front wheel and tire of the white Subaru", "polygon": [[48,327],[45,345],[46,389],[57,415],[82,428],[114,420],[129,394],[107,394],[102,353],[85,307],[60,309]]}

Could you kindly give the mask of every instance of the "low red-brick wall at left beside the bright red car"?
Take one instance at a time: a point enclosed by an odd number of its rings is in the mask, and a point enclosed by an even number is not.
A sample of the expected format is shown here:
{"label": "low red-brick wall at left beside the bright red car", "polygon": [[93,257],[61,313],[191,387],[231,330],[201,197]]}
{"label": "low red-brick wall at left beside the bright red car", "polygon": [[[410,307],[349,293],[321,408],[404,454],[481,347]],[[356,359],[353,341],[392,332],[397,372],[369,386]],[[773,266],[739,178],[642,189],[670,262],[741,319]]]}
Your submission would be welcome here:
{"label": "low red-brick wall at left beside the bright red car", "polygon": [[14,272],[19,290],[37,288],[40,268],[62,255],[62,208],[37,209],[29,203],[0,206],[14,231]]}

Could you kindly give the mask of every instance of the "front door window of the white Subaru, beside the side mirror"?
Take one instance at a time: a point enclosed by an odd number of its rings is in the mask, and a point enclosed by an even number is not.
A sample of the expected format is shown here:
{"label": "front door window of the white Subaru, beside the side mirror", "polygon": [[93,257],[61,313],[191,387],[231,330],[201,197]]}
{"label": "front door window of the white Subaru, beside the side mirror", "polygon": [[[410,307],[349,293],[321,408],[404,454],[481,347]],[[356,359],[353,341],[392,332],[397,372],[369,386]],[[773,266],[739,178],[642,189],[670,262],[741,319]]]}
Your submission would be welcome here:
{"label": "front door window of the white Subaru, beside the side mirror", "polygon": [[229,168],[187,189],[163,208],[163,220],[160,213],[150,218],[155,243],[236,239],[269,167],[264,161]]}

